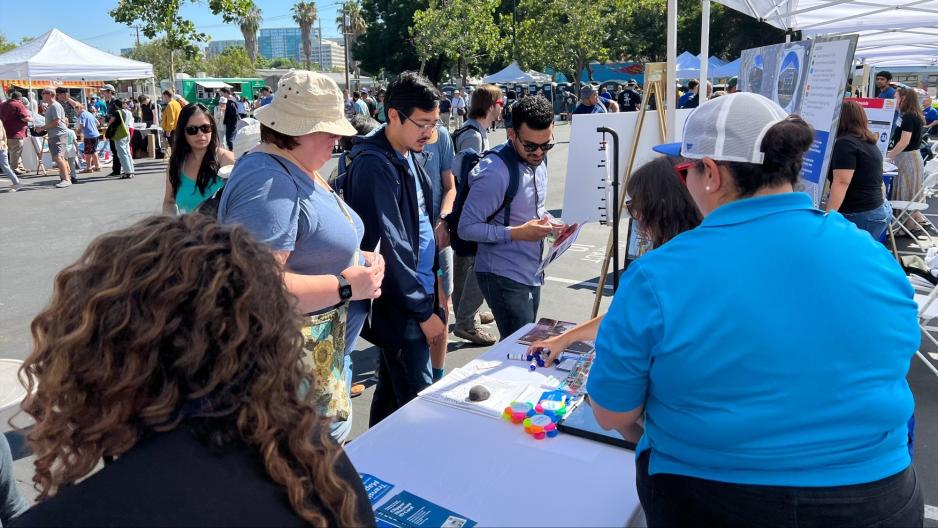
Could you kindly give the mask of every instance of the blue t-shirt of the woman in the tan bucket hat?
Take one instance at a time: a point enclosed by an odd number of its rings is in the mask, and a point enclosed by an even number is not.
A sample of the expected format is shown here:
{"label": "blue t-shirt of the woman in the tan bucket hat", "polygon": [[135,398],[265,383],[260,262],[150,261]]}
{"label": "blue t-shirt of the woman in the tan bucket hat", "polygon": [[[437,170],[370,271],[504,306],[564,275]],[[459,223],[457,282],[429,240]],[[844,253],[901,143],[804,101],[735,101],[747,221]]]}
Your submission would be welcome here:
{"label": "blue t-shirt of the woman in the tan bucket hat", "polygon": [[[238,160],[218,206],[218,220],[241,224],[273,251],[290,251],[286,267],[303,275],[337,275],[353,261],[365,226],[340,198],[316,185],[286,158],[261,152]],[[343,211],[344,209],[344,211]],[[346,216],[348,213],[348,217]],[[351,217],[351,222],[349,221]],[[367,315],[367,301],[349,306],[345,351],[350,353]]]}

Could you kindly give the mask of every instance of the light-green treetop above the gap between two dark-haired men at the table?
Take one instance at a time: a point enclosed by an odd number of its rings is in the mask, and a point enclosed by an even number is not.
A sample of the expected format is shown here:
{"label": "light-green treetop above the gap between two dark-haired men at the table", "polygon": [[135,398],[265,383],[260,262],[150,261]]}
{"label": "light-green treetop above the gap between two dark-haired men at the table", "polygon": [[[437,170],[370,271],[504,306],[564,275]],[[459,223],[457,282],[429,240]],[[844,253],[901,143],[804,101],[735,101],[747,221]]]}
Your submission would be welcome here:
{"label": "light-green treetop above the gap between two dark-haired men at the table", "polygon": [[421,72],[427,62],[445,57],[456,61],[465,81],[470,65],[500,54],[505,43],[495,21],[500,1],[442,0],[415,12],[410,34]]}

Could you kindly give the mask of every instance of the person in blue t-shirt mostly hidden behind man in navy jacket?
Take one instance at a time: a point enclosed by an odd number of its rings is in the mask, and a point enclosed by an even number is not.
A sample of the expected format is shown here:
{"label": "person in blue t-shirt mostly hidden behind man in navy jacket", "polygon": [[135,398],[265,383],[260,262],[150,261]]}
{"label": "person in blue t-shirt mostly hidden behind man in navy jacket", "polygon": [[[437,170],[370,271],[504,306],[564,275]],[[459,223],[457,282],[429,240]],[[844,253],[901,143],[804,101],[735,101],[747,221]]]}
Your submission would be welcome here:
{"label": "person in blue t-shirt mostly hidden behind man in navy jacket", "polygon": [[[437,125],[436,131],[427,141],[423,152],[413,155],[417,156],[417,161],[430,178],[433,211],[436,212],[432,222],[433,234],[440,263],[438,277],[440,306],[443,307],[446,316],[443,318],[443,323],[448,327],[449,300],[453,295],[453,249],[449,247],[449,228],[446,224],[446,217],[453,212],[453,205],[456,202],[456,179],[453,177],[453,157],[455,156],[453,139],[446,127],[442,124]],[[445,372],[447,336],[448,332],[444,334],[443,339],[430,347],[430,367],[434,382],[442,379]]]}

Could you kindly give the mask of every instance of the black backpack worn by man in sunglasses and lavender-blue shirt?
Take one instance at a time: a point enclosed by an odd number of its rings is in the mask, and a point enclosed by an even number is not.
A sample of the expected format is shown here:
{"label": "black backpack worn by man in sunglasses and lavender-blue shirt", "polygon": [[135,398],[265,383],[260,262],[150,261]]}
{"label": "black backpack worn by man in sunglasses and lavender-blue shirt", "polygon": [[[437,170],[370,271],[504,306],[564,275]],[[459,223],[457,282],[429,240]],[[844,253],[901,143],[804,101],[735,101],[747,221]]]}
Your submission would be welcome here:
{"label": "black backpack worn by man in sunglasses and lavender-blue shirt", "polygon": [[[463,127],[455,132],[453,137],[454,143],[456,138],[461,133],[465,132],[465,128],[466,127]],[[460,154],[462,155],[462,164],[459,167],[459,174],[456,180],[456,203],[453,205],[453,211],[446,217],[446,225],[449,229],[449,243],[453,251],[460,257],[471,257],[476,254],[478,244],[476,242],[463,240],[459,237],[459,218],[462,216],[463,206],[466,204],[466,198],[469,196],[469,173],[471,173],[472,169],[486,156],[498,156],[505,163],[505,166],[508,167],[508,188],[505,190],[502,204],[485,219],[487,223],[491,222],[498,213],[504,210],[505,218],[503,225],[505,227],[510,226],[511,202],[515,199],[515,195],[518,194],[521,175],[518,172],[518,155],[509,142],[502,143],[481,154],[472,148],[465,149],[461,151]]]}

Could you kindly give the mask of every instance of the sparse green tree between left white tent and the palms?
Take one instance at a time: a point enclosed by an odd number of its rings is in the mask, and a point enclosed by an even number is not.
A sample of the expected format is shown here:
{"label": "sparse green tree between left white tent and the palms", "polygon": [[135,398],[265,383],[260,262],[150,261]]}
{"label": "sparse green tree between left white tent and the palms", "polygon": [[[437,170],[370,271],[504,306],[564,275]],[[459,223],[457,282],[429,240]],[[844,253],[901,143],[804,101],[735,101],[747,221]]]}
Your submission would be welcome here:
{"label": "sparse green tree between left white tent and the palms", "polygon": [[[195,24],[179,14],[179,8],[185,1],[197,3],[199,0],[118,0],[117,7],[108,14],[115,22],[132,26],[141,25],[141,31],[147,38],[160,37],[164,40],[169,54],[169,75],[175,82],[176,54],[184,59],[193,59],[199,55],[197,43],[208,42],[209,36],[196,31]],[[253,0],[208,0],[208,7],[213,14],[221,15],[226,23],[235,23],[245,16],[254,6]]]}

